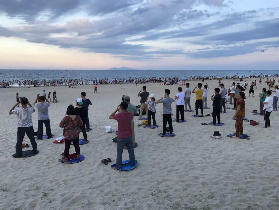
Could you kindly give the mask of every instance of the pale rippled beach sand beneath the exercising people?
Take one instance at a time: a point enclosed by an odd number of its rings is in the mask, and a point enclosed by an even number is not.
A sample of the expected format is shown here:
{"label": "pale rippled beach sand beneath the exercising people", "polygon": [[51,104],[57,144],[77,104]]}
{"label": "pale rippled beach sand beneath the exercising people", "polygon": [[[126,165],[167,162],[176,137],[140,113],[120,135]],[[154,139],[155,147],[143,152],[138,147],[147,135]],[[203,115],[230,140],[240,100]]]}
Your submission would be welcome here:
{"label": "pale rippled beach sand beneath the exercising people", "polygon": [[[259,79],[257,79],[258,81]],[[250,84],[252,79],[246,80]],[[264,81],[264,80],[263,80]],[[277,81],[277,80],[276,80]],[[208,106],[212,108],[210,96],[218,87],[217,81],[209,84]],[[222,81],[228,88],[232,81]],[[191,81],[190,88],[198,82]],[[145,84],[147,91],[159,99],[164,89],[169,88],[174,98],[179,85]],[[138,105],[138,91],[143,85],[99,85],[93,94],[93,86],[6,88],[1,96],[1,183],[0,209],[279,209],[278,196],[278,112],[271,113],[271,128],[264,129],[263,116],[254,116],[259,110],[258,94],[265,84],[255,89],[255,97],[246,98],[246,117],[259,121],[258,126],[244,122],[244,133],[250,140],[232,139],[227,134],[235,132],[232,116],[234,110],[227,109],[221,115],[223,127],[201,125],[213,122],[212,116],[190,117],[185,113],[186,123],[173,123],[175,137],[163,138],[162,104],[157,105],[157,129],[135,126],[134,149],[139,164],[131,171],[115,171],[101,160],[116,161],[114,133],[105,133],[105,126],[117,130],[117,122],[109,115],[121,102],[122,95],[131,96],[131,103]],[[182,86],[183,89],[185,85]],[[125,89],[124,89],[125,88]],[[57,91],[58,102],[49,108],[52,134],[62,136],[59,122],[65,116],[69,104],[74,104],[80,92],[85,91],[93,106],[89,107],[90,143],[81,145],[85,160],[78,164],[62,164],[58,161],[63,144],[52,143],[55,138],[37,140],[40,153],[30,158],[13,158],[16,144],[16,116],[8,115],[16,103],[15,95],[35,101],[37,93]],[[248,89],[245,91],[248,96]],[[195,94],[191,97],[194,110]],[[175,113],[176,102],[172,109]],[[233,105],[230,105],[231,108]],[[204,114],[211,113],[205,110]],[[175,119],[175,116],[173,116]],[[135,125],[140,123],[135,116]],[[37,130],[37,110],[33,114],[34,129]],[[219,130],[221,139],[210,135]],[[45,132],[45,129],[44,129]],[[80,135],[82,138],[82,133]],[[25,141],[31,144],[27,136]],[[71,146],[70,153],[74,153]],[[124,151],[123,160],[128,159]]]}

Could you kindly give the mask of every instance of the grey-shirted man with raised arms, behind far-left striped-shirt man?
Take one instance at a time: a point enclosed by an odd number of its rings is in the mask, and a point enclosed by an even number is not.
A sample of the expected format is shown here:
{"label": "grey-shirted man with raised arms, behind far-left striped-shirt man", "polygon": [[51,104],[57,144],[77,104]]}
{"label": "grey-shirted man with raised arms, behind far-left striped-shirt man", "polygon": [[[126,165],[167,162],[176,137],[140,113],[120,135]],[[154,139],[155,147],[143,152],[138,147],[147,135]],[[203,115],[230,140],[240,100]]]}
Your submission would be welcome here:
{"label": "grey-shirted man with raised arms, behind far-left striped-shirt man", "polygon": [[[39,97],[41,102],[37,103]],[[38,109],[38,129],[37,132],[34,132],[34,136],[37,136],[38,139],[43,138],[43,124],[45,124],[46,134],[49,138],[52,138],[48,113],[48,107],[50,106],[49,101],[44,96],[38,94],[34,104]]]}

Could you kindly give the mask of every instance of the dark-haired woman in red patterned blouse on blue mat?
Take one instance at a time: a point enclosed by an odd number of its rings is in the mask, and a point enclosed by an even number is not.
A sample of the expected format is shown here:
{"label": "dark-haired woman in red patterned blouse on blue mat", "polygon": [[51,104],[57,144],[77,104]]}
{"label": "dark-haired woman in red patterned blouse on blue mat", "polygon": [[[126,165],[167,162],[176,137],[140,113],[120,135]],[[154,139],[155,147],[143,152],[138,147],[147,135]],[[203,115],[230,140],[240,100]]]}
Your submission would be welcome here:
{"label": "dark-haired woman in red patterned blouse on blue mat", "polygon": [[83,122],[76,114],[76,110],[74,109],[73,105],[69,105],[66,111],[66,115],[62,119],[59,124],[59,127],[64,128],[63,136],[65,140],[65,149],[64,149],[64,158],[62,161],[68,162],[69,151],[71,147],[71,142],[73,141],[74,149],[76,151],[76,158],[80,159],[80,145],[79,145],[79,138],[80,138],[80,126],[83,125]]}

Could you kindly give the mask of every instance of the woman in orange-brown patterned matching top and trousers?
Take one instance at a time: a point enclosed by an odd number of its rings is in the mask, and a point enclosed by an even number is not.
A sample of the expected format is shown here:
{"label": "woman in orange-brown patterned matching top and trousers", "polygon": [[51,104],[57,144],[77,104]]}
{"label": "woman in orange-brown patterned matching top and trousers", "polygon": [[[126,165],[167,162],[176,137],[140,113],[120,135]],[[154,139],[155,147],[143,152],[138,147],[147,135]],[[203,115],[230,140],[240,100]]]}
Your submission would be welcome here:
{"label": "woman in orange-brown patterned matching top and trousers", "polygon": [[237,95],[237,98],[239,99],[239,101],[236,104],[236,110],[235,110],[235,114],[233,116],[233,120],[234,118],[236,118],[235,120],[235,136],[234,138],[239,138],[239,136],[243,135],[243,118],[245,116],[245,101],[244,99],[245,94],[244,92],[239,92],[239,94]]}

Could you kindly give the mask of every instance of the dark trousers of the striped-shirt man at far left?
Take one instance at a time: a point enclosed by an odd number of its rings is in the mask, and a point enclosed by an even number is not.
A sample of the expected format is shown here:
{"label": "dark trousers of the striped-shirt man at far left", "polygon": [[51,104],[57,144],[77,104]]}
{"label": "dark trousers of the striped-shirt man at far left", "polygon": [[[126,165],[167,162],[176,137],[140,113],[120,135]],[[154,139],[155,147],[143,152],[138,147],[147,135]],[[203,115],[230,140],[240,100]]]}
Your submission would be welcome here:
{"label": "dark trousers of the striped-shirt man at far left", "polygon": [[22,155],[22,142],[25,134],[28,136],[30,139],[30,142],[32,144],[32,152],[36,153],[37,151],[37,143],[34,137],[34,129],[33,126],[31,127],[18,127],[18,132],[17,132],[17,142],[16,142],[16,154],[18,156]]}

